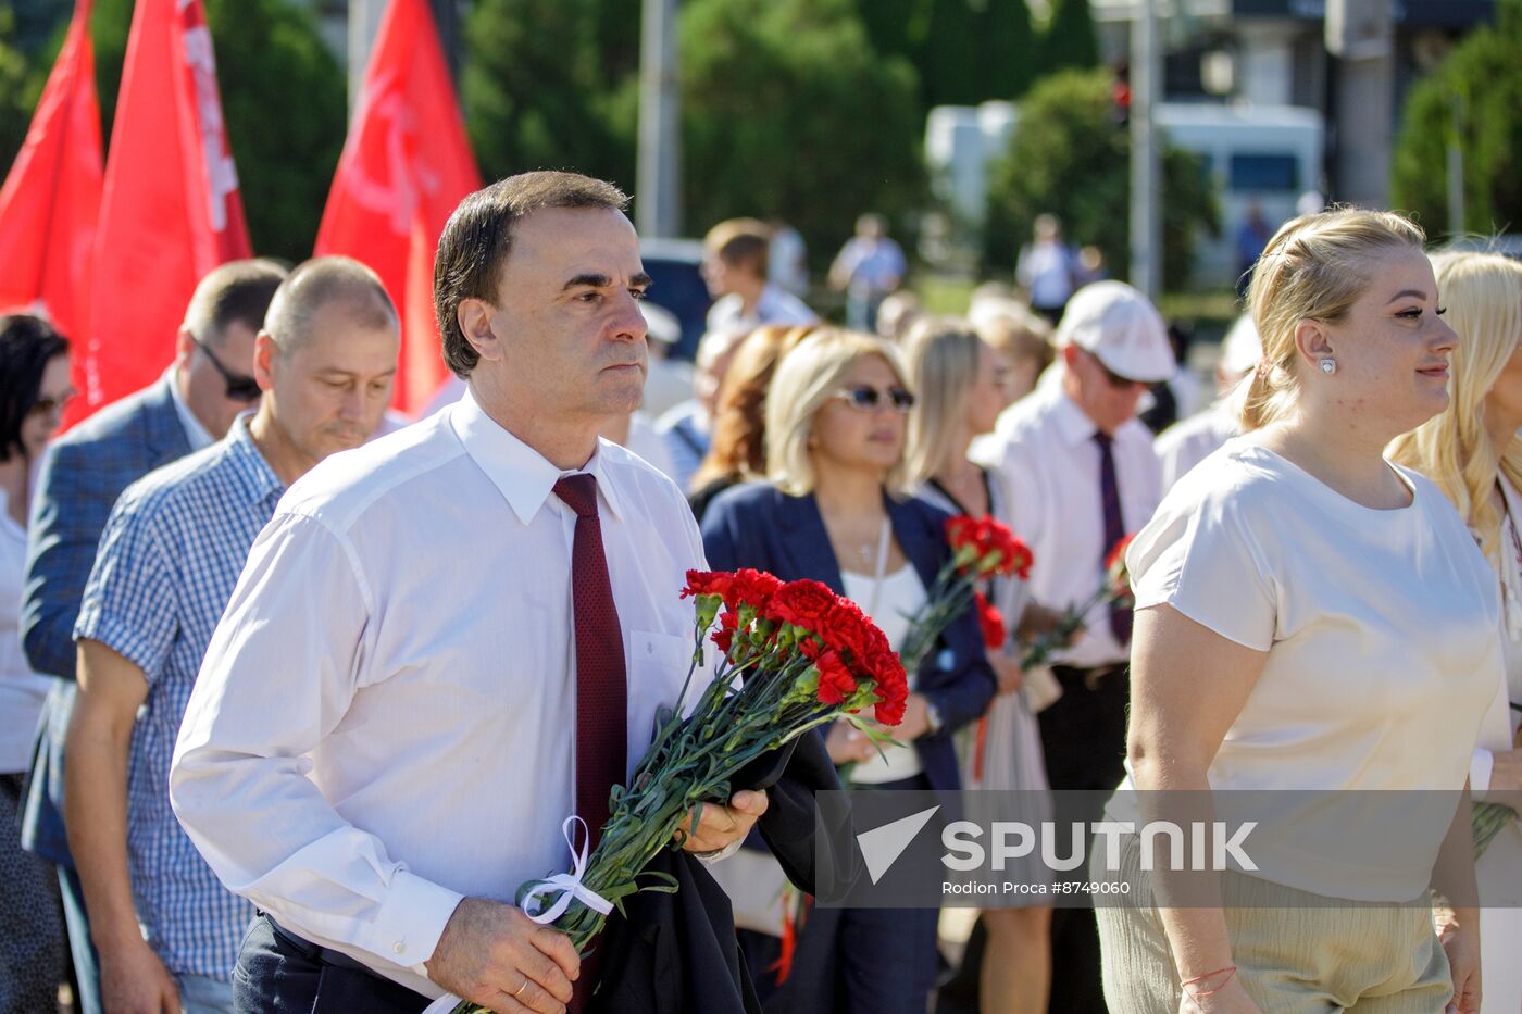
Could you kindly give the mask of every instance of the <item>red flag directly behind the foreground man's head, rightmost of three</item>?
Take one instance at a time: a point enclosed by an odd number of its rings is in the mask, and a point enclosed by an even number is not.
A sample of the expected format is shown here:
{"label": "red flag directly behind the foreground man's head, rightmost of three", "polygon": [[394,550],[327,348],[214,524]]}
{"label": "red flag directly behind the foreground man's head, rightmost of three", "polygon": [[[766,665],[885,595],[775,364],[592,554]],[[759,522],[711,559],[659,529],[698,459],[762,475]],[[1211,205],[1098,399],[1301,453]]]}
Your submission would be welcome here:
{"label": "red flag directly behind the foreground man's head, rightmost of three", "polygon": [[481,189],[426,0],[391,0],[376,35],[317,253],[374,268],[402,315],[393,405],[417,413],[447,370],[434,320],[434,251],[444,222]]}

